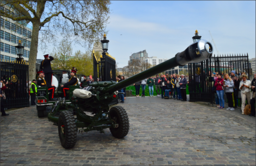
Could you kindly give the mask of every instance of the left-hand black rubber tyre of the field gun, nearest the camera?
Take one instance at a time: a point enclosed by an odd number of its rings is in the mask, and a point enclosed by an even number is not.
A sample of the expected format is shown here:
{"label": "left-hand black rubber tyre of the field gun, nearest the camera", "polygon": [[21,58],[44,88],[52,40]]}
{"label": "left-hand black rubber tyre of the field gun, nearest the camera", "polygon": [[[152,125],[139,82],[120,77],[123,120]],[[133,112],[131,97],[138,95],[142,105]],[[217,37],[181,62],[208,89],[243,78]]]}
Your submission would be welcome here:
{"label": "left-hand black rubber tyre of the field gun, nearest the camera", "polygon": [[[61,125],[64,125],[65,136],[62,136]],[[65,149],[73,148],[76,144],[77,128],[73,113],[65,110],[60,113],[58,119],[59,141]]]}

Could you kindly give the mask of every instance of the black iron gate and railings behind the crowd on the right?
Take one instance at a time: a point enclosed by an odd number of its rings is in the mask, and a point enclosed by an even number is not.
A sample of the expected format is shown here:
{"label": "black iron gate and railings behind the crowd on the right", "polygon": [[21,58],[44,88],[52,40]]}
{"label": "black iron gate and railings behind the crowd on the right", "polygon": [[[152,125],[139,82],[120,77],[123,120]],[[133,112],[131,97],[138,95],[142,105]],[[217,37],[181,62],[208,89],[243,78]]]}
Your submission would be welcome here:
{"label": "black iron gate and railings behind the crowd on the right", "polygon": [[242,72],[247,75],[249,73],[249,60],[248,54],[241,56],[225,55],[225,56],[212,56],[210,59],[200,63],[188,64],[189,74],[189,101],[204,101],[213,104],[214,94],[212,93],[212,73],[228,73],[231,71],[237,72],[238,78],[241,77]]}

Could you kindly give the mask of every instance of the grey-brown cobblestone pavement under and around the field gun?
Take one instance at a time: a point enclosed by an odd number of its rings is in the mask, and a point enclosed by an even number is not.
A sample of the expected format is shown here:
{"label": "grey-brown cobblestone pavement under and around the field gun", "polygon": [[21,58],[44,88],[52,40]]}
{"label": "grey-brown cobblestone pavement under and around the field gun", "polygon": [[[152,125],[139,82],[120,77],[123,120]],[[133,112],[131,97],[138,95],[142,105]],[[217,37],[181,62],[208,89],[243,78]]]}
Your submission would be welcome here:
{"label": "grey-brown cobblestone pavement under and around the field gun", "polygon": [[1,165],[255,165],[255,123],[194,102],[120,104],[129,115],[124,139],[90,131],[73,149],[35,107],[1,117]]}

